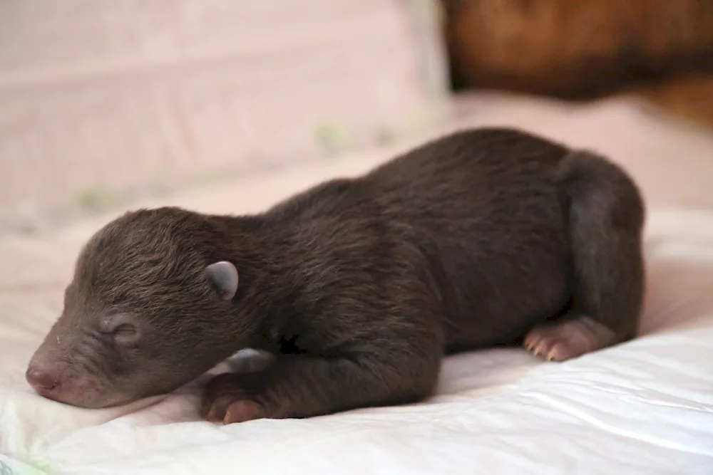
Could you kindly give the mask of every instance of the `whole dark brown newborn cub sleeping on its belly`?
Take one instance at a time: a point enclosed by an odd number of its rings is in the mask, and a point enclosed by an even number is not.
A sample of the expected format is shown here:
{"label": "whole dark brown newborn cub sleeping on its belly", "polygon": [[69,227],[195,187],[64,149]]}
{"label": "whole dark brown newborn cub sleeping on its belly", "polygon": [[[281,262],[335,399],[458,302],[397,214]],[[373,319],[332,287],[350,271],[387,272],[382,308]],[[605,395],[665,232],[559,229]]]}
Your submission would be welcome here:
{"label": "whole dark brown newborn cub sleeping on its belly", "polygon": [[617,165],[518,130],[454,132],[261,214],[128,212],[81,251],[26,378],[108,407],[244,348],[202,414],[232,423],[418,402],[448,353],[563,361],[635,335],[645,210]]}

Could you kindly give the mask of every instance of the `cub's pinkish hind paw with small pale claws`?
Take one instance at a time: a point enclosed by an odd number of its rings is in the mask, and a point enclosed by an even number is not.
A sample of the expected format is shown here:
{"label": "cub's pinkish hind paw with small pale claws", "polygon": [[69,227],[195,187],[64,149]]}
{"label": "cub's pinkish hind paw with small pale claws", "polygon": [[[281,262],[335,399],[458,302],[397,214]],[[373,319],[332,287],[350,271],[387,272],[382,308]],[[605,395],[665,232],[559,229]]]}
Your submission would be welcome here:
{"label": "cub's pinkish hind paw with small pale claws", "polygon": [[523,346],[548,361],[565,361],[590,353],[615,340],[615,333],[586,316],[543,323],[530,330]]}

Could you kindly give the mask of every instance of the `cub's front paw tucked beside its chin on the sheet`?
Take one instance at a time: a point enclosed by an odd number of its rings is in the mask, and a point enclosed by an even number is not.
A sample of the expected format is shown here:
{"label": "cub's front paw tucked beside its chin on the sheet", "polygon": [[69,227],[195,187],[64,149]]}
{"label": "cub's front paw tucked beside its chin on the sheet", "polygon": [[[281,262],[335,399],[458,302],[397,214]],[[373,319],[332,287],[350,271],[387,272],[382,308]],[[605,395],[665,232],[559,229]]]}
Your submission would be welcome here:
{"label": "cub's front paw tucked beside its chin on the sheet", "polygon": [[223,424],[267,417],[265,407],[247,390],[251,379],[249,375],[226,372],[210,380],[203,393],[202,417]]}

